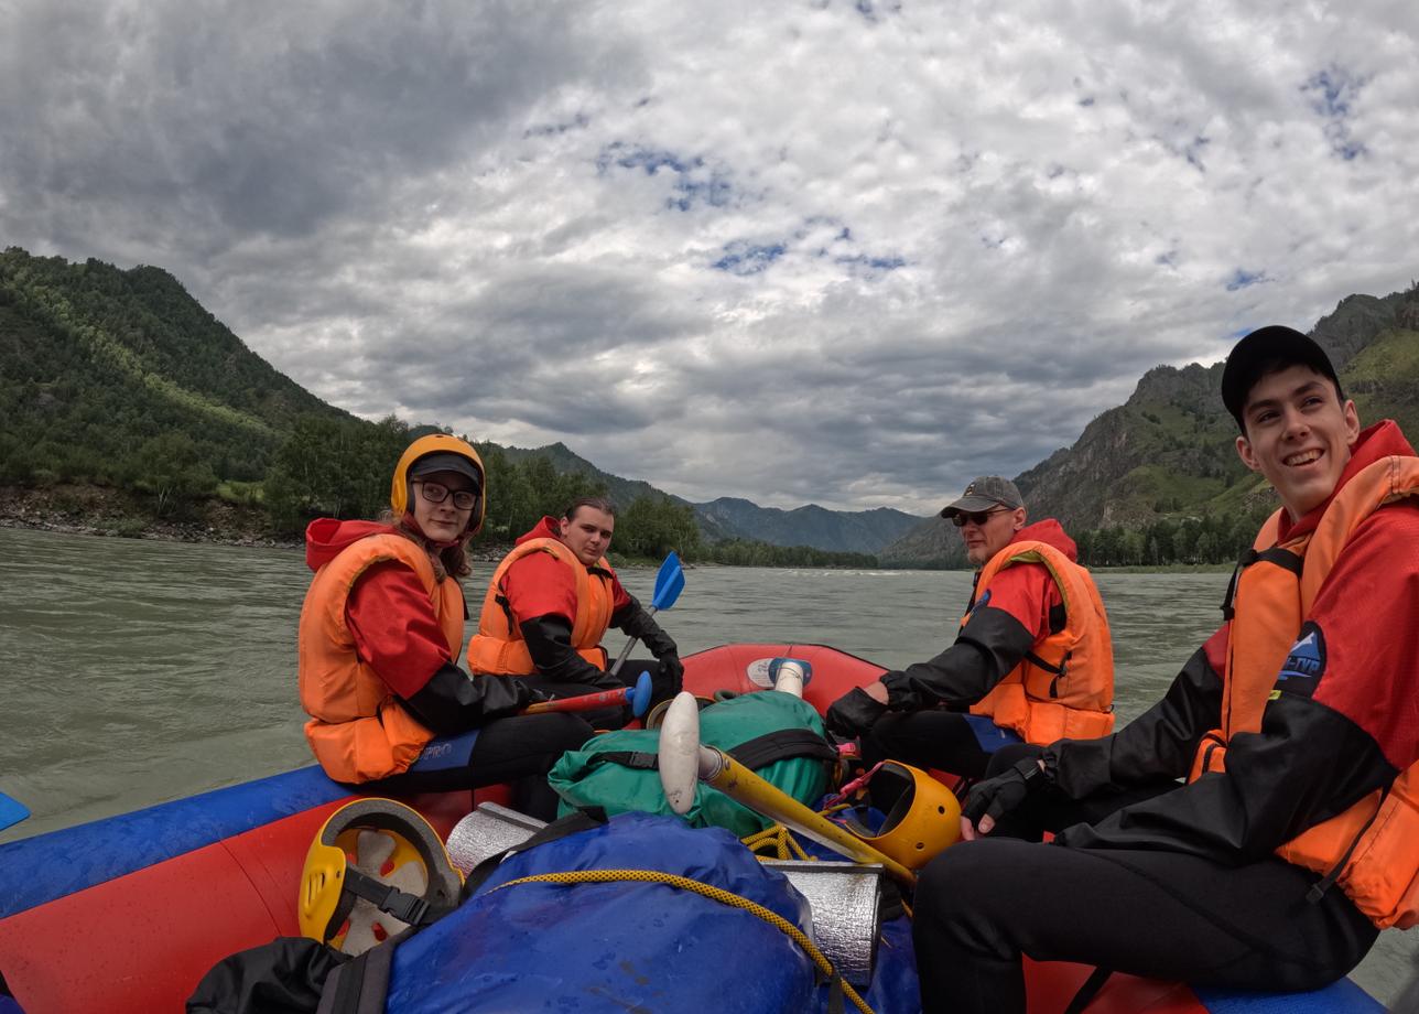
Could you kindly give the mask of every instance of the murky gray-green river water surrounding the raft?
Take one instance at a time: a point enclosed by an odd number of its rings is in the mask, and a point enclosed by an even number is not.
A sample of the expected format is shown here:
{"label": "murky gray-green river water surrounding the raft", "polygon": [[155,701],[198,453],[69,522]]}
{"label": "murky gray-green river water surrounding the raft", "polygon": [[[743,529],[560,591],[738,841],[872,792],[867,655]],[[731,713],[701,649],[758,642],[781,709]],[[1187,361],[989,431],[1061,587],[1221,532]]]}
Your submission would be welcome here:
{"label": "murky gray-green river water surrounding the raft", "polygon": [[[464,582],[477,608],[492,564]],[[622,572],[650,599],[656,571]],[[956,571],[707,567],[661,616],[683,655],[728,642],[824,643],[901,667],[949,643]],[[1120,723],[1166,690],[1216,628],[1226,574],[1097,575]],[[295,686],[301,552],[0,528],[0,791],[33,817],[0,841],[311,763]],[[609,642],[614,652],[619,635]],[[1391,930],[1355,978],[1393,997],[1419,933]]]}

